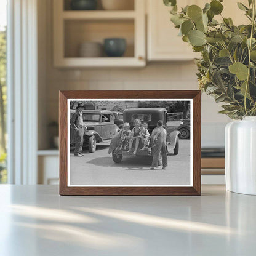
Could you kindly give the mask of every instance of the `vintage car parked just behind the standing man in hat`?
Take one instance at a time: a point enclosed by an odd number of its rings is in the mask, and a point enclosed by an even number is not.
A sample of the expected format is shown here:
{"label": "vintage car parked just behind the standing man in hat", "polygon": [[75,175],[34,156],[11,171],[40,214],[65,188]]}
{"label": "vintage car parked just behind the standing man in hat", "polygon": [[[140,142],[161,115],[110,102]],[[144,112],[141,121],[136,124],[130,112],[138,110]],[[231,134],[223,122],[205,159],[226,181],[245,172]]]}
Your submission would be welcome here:
{"label": "vintage car parked just behind the standing man in hat", "polygon": [[[75,110],[70,110],[70,119],[74,112]],[[90,153],[96,150],[97,143],[109,142],[120,130],[114,124],[113,113],[108,110],[83,110],[82,119],[87,127],[87,130],[84,131],[84,145],[88,145]],[[75,144],[74,129],[71,126],[70,144]]]}

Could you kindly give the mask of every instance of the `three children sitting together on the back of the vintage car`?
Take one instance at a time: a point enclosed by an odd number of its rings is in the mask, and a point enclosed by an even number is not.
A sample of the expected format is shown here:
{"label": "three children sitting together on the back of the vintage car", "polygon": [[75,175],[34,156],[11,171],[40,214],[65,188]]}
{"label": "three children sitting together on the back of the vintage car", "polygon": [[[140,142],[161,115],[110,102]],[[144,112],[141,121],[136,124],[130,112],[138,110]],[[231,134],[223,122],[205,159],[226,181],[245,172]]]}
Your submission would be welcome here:
{"label": "three children sitting together on the back of the vintage car", "polygon": [[[146,150],[150,144],[150,133],[148,132],[148,124],[141,123],[139,119],[134,120],[134,128],[130,130],[130,124],[128,122],[124,123],[124,127],[120,133],[121,143],[120,149],[127,150],[131,153],[132,145],[135,141],[135,150],[132,154],[136,154],[138,146],[142,143],[143,148],[141,150]],[[129,146],[129,148],[128,148]]]}

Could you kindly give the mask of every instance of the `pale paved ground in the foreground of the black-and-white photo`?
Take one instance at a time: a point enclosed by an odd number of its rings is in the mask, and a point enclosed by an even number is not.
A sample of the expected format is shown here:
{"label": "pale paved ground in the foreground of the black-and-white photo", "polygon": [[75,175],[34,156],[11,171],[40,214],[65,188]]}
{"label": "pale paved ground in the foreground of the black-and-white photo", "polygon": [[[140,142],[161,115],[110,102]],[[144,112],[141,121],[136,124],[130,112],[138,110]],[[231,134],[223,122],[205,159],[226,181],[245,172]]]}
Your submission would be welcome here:
{"label": "pale paved ground in the foreground of the black-and-white photo", "polygon": [[95,153],[83,150],[82,158],[70,154],[71,185],[190,185],[190,140],[180,140],[177,156],[168,156],[166,170],[150,170],[151,157],[124,156],[113,162],[108,145],[97,145]]}

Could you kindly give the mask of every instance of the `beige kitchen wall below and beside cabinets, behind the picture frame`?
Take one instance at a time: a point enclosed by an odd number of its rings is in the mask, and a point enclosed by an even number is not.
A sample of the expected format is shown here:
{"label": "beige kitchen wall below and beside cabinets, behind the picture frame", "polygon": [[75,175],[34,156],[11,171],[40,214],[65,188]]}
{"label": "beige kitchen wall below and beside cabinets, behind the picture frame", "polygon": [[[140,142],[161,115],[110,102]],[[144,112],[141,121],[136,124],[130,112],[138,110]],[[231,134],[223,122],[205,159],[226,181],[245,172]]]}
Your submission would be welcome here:
{"label": "beige kitchen wall below and beside cabinets, behind the picture frame", "polygon": [[[46,38],[39,44],[42,62],[41,125],[58,121],[58,90],[196,90],[196,65],[191,62],[148,63],[145,68],[84,68],[57,69],[52,66],[52,1],[46,0],[42,8],[39,30]],[[41,48],[40,48],[41,47]],[[44,48],[46,47],[46,48]],[[44,52],[46,52],[44,59]],[[211,97],[202,96],[202,146],[223,146],[224,127],[228,118],[218,114],[218,106]],[[43,119],[43,120],[42,120]],[[40,121],[39,121],[40,122]],[[47,129],[47,127],[46,127]],[[40,137],[40,133],[39,133]],[[40,142],[41,141],[41,142]],[[39,138],[39,148],[46,148],[47,140]]]}

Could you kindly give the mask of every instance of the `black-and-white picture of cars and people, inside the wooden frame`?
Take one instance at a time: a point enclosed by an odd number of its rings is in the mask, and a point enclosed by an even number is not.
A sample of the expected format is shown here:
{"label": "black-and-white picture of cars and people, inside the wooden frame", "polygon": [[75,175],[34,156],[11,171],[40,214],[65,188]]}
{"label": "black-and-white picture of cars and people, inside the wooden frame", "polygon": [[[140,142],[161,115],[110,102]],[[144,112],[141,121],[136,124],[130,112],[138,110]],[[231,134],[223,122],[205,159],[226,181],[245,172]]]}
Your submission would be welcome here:
{"label": "black-and-white picture of cars and people, inside the wooden frame", "polygon": [[68,186],[193,186],[192,103],[68,100]]}

